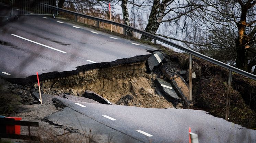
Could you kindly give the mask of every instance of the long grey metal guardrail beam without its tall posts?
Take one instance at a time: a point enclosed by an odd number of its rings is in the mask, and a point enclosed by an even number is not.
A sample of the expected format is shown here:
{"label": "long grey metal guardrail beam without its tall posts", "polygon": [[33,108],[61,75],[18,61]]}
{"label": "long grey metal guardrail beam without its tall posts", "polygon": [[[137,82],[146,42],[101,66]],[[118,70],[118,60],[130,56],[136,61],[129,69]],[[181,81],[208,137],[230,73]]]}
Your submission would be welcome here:
{"label": "long grey metal guardrail beam without its tall posts", "polygon": [[[51,6],[51,5],[47,5],[47,4],[42,4],[42,5],[48,6],[49,8],[56,9],[55,6]],[[240,70],[238,68],[230,66],[230,65],[228,65],[226,63],[223,63],[221,61],[218,61],[218,60],[213,59],[211,57],[208,57],[206,55],[200,54],[200,53],[198,53],[198,52],[196,52],[196,51],[194,51],[192,49],[189,49],[189,48],[186,48],[184,46],[181,46],[181,45],[175,44],[173,42],[167,41],[167,40],[165,40],[163,38],[160,38],[160,37],[158,37],[156,35],[153,35],[151,33],[148,33],[148,32],[145,32],[145,31],[142,31],[142,30],[130,27],[130,26],[127,26],[125,24],[120,24],[120,23],[116,23],[116,22],[113,22],[113,21],[110,21],[110,20],[103,19],[103,18],[98,18],[98,17],[94,17],[94,16],[90,16],[90,15],[85,15],[85,14],[81,14],[81,13],[77,13],[77,12],[73,12],[73,11],[69,11],[69,10],[65,10],[65,9],[61,9],[61,8],[58,8],[58,11],[65,12],[65,13],[72,14],[72,15],[79,16],[79,17],[84,17],[84,18],[92,19],[92,20],[97,21],[97,23],[98,22],[103,22],[103,23],[113,24],[113,25],[116,25],[116,26],[119,26],[119,27],[123,27],[124,31],[125,31],[125,29],[129,29],[131,31],[134,31],[134,32],[146,35],[146,36],[148,36],[150,38],[153,38],[154,41],[157,40],[157,41],[163,42],[163,43],[165,43],[167,45],[170,45],[170,46],[173,46],[175,48],[178,48],[178,49],[180,49],[180,50],[182,50],[184,52],[192,54],[192,55],[194,55],[196,57],[199,57],[199,58],[201,58],[203,60],[206,60],[206,61],[209,61],[211,63],[214,63],[214,64],[216,64],[216,65],[218,65],[220,67],[223,67],[225,69],[231,70],[231,71],[236,72],[238,74],[241,74],[241,75],[244,75],[246,77],[249,77],[249,78],[251,78],[253,80],[256,80],[256,75],[253,75],[253,74],[248,73],[246,71]],[[97,26],[98,26],[98,24],[97,24]]]}

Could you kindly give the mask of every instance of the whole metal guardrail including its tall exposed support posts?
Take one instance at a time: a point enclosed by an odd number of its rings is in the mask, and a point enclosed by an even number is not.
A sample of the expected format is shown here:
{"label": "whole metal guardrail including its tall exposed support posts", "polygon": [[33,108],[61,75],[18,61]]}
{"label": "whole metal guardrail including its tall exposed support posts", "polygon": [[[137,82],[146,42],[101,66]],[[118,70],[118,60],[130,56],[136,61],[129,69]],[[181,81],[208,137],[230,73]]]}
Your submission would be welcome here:
{"label": "whole metal guardrail including its tall exposed support posts", "polygon": [[[47,4],[41,4],[41,5],[47,6],[48,8],[56,9],[55,6],[51,6],[51,5],[47,5]],[[232,72],[236,72],[238,74],[241,74],[243,76],[246,76],[246,77],[249,77],[253,80],[256,80],[256,75],[253,75],[253,74],[248,73],[246,71],[240,70],[238,68],[230,66],[226,63],[223,63],[221,61],[218,61],[218,60],[213,59],[211,57],[208,57],[206,55],[200,54],[200,53],[198,53],[198,52],[196,52],[192,49],[189,49],[189,48],[186,48],[184,46],[181,46],[181,45],[175,44],[173,42],[167,41],[167,40],[165,40],[163,38],[160,38],[160,37],[158,37],[154,34],[151,34],[151,33],[148,33],[148,32],[145,32],[145,31],[142,31],[142,30],[130,27],[130,26],[127,26],[125,24],[120,24],[120,23],[117,23],[117,22],[106,20],[106,19],[103,19],[103,18],[98,18],[98,17],[94,17],[94,16],[90,16],[90,15],[85,15],[85,14],[81,14],[81,13],[77,13],[77,12],[73,12],[73,11],[69,11],[69,10],[65,10],[65,9],[61,9],[61,8],[58,8],[58,11],[74,15],[75,16],[75,21],[77,21],[78,16],[88,18],[88,19],[91,19],[91,20],[95,20],[96,23],[97,23],[97,27],[99,27],[99,22],[103,22],[103,23],[112,24],[112,25],[122,27],[122,28],[124,28],[124,34],[126,34],[126,32],[125,32],[126,29],[129,29],[131,31],[140,33],[142,35],[146,35],[147,37],[150,37],[150,38],[154,39],[154,44],[156,44],[156,41],[160,41],[160,42],[163,42],[167,45],[173,46],[173,47],[178,48],[178,49],[180,49],[184,52],[189,53],[189,100],[192,100],[192,77],[191,77],[191,75],[192,75],[192,55],[194,55],[198,58],[201,58],[203,60],[206,60],[208,62],[211,62],[215,65],[218,65],[222,68],[228,69],[229,70],[229,82],[228,82],[228,92],[227,92],[227,102],[226,102],[226,117],[225,117],[226,120],[228,120],[228,115],[229,115],[229,105],[230,105],[229,102],[230,102]]]}

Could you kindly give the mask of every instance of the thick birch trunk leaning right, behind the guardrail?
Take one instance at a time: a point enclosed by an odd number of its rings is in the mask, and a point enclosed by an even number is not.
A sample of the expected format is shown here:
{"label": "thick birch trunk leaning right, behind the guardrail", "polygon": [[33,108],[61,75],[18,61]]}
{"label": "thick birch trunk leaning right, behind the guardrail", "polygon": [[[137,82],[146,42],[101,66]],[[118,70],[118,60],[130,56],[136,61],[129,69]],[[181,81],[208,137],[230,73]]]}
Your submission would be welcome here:
{"label": "thick birch trunk leaning right, behind the guardrail", "polygon": [[[160,0],[154,0],[150,15],[149,15],[149,20],[148,20],[149,22],[144,31],[149,32],[151,34],[156,33],[164,16],[164,11],[166,8],[165,2],[166,0],[163,0],[162,3],[160,2]],[[149,38],[145,35],[142,35],[141,39],[152,41],[152,38]]]}

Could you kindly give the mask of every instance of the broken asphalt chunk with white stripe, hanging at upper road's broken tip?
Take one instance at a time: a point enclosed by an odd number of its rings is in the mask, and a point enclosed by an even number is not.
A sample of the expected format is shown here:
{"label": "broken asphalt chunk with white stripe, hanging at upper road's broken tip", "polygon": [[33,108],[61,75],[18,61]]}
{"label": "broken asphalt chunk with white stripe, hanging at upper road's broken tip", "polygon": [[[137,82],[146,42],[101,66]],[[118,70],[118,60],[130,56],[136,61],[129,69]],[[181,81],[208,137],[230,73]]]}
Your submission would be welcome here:
{"label": "broken asphalt chunk with white stripe, hanging at upper road's broken tip", "polygon": [[164,60],[164,55],[161,52],[153,52],[148,58],[148,65],[150,71],[152,71],[155,66],[158,66],[162,62],[162,60]]}

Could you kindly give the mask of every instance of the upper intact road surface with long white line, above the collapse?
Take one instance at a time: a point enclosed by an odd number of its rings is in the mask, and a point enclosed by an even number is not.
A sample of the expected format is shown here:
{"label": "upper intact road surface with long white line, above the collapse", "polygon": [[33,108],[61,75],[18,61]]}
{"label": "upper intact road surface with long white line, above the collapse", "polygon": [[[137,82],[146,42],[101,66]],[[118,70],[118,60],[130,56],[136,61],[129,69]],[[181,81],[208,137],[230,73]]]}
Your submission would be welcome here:
{"label": "upper intact road surface with long white line, above the collapse", "polygon": [[[10,19],[13,19],[10,18]],[[0,17],[0,76],[24,78],[149,54],[154,47],[45,16]]]}

